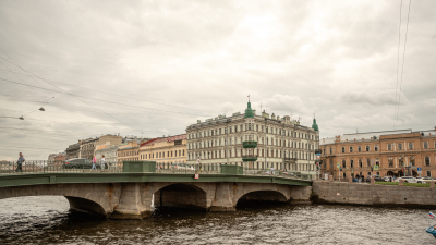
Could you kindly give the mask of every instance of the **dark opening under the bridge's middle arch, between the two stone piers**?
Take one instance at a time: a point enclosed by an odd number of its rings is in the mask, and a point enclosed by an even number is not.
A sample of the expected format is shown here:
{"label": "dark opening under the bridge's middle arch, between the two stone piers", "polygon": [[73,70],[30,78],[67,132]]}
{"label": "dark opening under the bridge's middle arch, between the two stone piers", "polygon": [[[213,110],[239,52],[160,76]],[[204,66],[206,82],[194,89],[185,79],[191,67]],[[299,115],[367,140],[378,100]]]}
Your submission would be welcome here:
{"label": "dark opening under the bridge's middle arch, between the two stone piers", "polygon": [[206,192],[195,185],[171,184],[154,194],[154,206],[206,211]]}

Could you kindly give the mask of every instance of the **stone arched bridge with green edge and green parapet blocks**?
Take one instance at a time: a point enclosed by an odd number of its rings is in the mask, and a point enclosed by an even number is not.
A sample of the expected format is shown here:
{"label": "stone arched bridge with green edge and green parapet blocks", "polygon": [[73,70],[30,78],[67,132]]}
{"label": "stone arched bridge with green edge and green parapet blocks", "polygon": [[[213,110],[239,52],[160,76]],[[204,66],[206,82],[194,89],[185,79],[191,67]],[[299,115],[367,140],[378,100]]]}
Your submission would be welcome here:
{"label": "stone arched bridge with green edge and green parapet blocks", "polygon": [[239,166],[218,174],[158,173],[155,162],[124,162],[122,172],[0,175],[0,199],[64,196],[71,208],[109,219],[142,219],[155,207],[235,211],[239,201],[308,203],[312,180],[251,175]]}

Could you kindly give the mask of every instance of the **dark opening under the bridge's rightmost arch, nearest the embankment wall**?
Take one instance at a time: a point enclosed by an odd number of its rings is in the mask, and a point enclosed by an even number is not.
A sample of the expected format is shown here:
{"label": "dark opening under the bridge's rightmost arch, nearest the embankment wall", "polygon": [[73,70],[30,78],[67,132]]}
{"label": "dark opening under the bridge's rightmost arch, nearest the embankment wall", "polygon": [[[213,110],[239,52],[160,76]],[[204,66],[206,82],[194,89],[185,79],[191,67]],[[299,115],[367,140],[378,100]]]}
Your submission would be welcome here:
{"label": "dark opening under the bridge's rightmost arch, nearest the embankment wall", "polygon": [[286,204],[287,197],[277,191],[256,191],[241,196],[237,201],[237,207],[246,206],[253,203]]}

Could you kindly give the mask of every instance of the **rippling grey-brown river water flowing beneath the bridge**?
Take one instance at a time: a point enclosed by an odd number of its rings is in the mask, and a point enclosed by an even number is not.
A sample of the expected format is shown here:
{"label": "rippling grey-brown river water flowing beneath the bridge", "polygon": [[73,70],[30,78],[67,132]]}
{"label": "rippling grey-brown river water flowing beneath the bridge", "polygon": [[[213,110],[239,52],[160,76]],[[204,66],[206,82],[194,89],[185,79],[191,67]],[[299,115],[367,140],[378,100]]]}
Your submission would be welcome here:
{"label": "rippling grey-brown river water flowing beneath the bridge", "polygon": [[0,244],[436,244],[429,220],[425,209],[262,205],[120,221],[71,211],[64,197],[19,197],[0,200]]}

